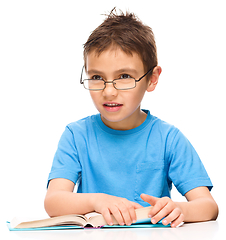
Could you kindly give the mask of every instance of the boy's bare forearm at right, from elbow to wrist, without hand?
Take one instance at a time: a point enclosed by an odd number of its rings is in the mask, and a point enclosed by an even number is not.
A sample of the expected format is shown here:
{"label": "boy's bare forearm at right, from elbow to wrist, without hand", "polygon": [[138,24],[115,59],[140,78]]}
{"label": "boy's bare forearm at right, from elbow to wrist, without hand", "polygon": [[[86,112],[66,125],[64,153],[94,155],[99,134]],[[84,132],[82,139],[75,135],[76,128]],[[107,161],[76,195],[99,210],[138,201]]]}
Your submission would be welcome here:
{"label": "boy's bare forearm at right, from elbow to wrist, without hand", "polygon": [[184,222],[216,220],[218,206],[211,198],[198,198],[189,202],[176,203],[184,214]]}

